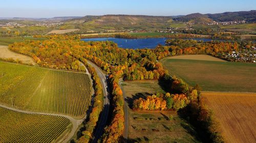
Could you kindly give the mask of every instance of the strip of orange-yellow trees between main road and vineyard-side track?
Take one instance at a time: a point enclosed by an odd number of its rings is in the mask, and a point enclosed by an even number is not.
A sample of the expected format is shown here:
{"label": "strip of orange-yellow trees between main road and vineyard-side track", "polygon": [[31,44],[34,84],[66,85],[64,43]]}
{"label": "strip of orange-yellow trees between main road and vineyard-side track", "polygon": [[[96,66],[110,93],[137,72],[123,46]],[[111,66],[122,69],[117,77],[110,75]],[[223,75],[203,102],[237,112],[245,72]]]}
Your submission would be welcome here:
{"label": "strip of orange-yellow trees between main road and vineyard-side track", "polygon": [[[86,64],[86,63],[84,63]],[[92,102],[92,110],[89,115],[89,120],[84,125],[85,130],[82,131],[82,136],[79,138],[77,142],[84,143],[89,142],[93,137],[93,132],[95,130],[96,124],[99,120],[100,112],[103,109],[103,89],[100,83],[99,76],[97,75],[96,70],[91,66],[87,65],[88,71],[92,75],[93,79],[93,87],[94,87],[94,97]]]}

